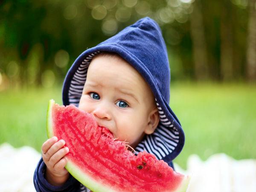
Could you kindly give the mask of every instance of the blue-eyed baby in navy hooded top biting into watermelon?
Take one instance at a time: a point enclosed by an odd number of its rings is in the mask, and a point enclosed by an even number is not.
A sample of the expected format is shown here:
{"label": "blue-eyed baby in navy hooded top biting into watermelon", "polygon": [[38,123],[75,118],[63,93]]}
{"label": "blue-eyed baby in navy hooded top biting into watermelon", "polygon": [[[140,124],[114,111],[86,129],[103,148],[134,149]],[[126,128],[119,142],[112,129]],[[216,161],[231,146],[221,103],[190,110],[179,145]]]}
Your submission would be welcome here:
{"label": "blue-eyed baby in navy hooded top biting into watermelon", "polygon": [[[93,114],[98,125],[128,142],[135,154],[148,151],[173,167],[184,134],[168,105],[169,86],[160,28],[145,17],[76,59],[64,81],[63,102]],[[69,152],[64,144],[52,137],[42,145],[34,175],[38,192],[89,191],[64,168]]]}

